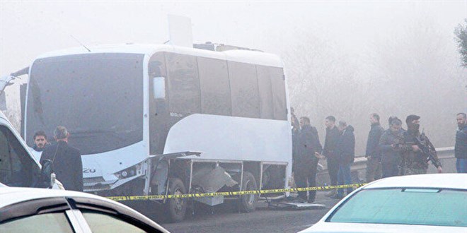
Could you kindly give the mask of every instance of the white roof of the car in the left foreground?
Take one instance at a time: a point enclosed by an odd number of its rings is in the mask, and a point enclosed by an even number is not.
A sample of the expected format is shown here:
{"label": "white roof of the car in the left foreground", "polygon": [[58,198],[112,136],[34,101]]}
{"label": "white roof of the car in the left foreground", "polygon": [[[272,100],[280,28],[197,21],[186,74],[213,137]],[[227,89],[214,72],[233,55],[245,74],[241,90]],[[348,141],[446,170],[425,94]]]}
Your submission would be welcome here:
{"label": "white roof of the car in the left foreground", "polygon": [[[102,201],[113,202],[108,198],[103,198],[89,193],[81,193],[77,191],[66,191],[59,189],[36,189],[36,188],[16,188],[8,186],[0,186],[0,208],[12,205],[14,203],[21,203],[23,201],[30,201],[40,198],[55,198],[55,197],[80,197],[80,198],[93,198]],[[122,205],[120,203],[117,203]]]}

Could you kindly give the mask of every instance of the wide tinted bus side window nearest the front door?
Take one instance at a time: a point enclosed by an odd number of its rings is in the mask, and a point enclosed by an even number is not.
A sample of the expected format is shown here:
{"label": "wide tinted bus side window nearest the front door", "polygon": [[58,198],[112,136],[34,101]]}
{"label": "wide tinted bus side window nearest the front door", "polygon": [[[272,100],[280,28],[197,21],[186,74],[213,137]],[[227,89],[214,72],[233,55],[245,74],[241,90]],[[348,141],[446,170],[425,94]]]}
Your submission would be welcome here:
{"label": "wide tinted bus side window nearest the front door", "polygon": [[195,56],[166,54],[168,101],[175,113],[199,113],[200,80]]}

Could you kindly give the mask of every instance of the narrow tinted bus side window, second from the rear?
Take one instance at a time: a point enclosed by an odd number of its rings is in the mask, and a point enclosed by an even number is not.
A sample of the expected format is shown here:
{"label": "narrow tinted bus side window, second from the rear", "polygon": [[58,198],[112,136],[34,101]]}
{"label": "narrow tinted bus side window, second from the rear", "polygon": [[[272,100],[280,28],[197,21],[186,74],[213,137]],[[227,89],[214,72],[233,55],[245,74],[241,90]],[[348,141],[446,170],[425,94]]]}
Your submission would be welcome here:
{"label": "narrow tinted bus side window, second from the rear", "polygon": [[256,66],[258,73],[258,87],[260,90],[261,118],[274,119],[274,108],[272,107],[271,68],[267,66]]}

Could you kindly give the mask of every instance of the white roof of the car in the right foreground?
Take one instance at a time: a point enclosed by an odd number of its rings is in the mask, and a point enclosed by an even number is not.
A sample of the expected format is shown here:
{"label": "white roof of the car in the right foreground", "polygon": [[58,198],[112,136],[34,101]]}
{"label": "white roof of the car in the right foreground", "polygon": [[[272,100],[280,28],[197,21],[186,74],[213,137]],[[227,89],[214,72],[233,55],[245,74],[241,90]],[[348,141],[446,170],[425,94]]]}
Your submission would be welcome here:
{"label": "white roof of the car in the right foreground", "polygon": [[363,189],[398,187],[467,190],[467,174],[417,174],[410,176],[389,177],[371,182],[370,184],[367,184],[367,186],[364,186]]}

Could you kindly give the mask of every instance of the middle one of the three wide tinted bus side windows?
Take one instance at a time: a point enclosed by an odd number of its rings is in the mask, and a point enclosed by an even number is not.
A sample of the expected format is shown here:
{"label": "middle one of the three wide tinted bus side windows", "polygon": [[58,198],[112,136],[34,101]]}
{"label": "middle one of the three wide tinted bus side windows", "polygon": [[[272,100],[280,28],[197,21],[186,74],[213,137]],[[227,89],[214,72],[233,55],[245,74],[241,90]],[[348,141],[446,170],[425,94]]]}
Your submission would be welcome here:
{"label": "middle one of the three wide tinted bus side windows", "polygon": [[198,57],[201,85],[201,111],[204,114],[231,115],[227,61]]}

